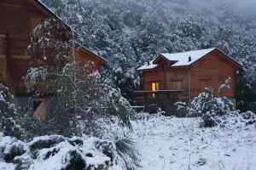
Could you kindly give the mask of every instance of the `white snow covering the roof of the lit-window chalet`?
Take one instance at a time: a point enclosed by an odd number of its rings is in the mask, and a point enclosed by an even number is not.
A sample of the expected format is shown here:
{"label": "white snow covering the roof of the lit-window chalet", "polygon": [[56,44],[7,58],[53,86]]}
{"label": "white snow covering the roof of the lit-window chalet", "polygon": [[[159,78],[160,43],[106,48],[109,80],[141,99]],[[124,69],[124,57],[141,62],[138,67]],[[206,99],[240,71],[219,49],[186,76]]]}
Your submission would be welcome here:
{"label": "white snow covering the roof of the lit-window chalet", "polygon": [[[187,65],[193,64],[196,60],[201,59],[206,54],[212,52],[214,49],[217,49],[217,48],[207,48],[207,49],[188,51],[188,52],[177,53],[177,54],[160,54],[155,59],[158,59],[160,56],[164,56],[169,61],[176,61],[173,65],[171,65],[171,67],[187,66]],[[190,61],[189,61],[189,57],[191,58]],[[151,60],[149,62],[149,65],[147,63],[147,64],[139,67],[137,70],[142,71],[142,70],[149,70],[149,69],[156,68],[158,65],[154,64],[155,59]]]}

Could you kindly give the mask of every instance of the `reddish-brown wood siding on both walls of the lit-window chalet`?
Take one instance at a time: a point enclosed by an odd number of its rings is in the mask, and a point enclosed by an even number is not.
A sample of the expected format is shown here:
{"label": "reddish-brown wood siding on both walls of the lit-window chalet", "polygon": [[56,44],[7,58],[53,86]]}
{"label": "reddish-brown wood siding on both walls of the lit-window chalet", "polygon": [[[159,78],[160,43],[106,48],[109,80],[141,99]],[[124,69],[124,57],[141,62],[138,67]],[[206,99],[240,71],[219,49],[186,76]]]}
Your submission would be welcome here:
{"label": "reddish-brown wood siding on both walls of the lit-window chalet", "polygon": [[[159,82],[160,90],[178,90],[182,95],[179,99],[193,99],[207,87],[212,87],[213,94],[218,95],[218,87],[231,78],[230,89],[224,92],[228,98],[236,98],[236,65],[233,60],[218,50],[212,51],[193,65],[168,67],[165,59],[159,59],[156,69],[143,71],[143,90],[151,90],[151,82]],[[190,80],[190,82],[189,82]],[[189,89],[190,83],[190,89]]]}

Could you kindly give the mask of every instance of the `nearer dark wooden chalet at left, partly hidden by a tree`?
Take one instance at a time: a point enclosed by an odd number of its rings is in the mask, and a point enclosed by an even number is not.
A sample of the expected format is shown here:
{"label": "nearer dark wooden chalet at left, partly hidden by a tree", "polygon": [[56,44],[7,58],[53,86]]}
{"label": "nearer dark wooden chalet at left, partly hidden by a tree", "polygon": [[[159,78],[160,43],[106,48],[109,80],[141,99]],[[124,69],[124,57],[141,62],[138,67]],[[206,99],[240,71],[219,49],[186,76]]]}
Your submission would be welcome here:
{"label": "nearer dark wooden chalet at left, partly hidden by a tree", "polygon": [[[9,86],[19,100],[19,104],[27,105],[28,103],[22,77],[32,66],[32,56],[26,54],[30,35],[35,26],[45,19],[62,22],[39,0],[0,1],[0,82]],[[67,30],[71,31],[70,27],[67,26]],[[80,62],[93,61],[95,70],[101,71],[102,65],[107,61],[78,43],[77,46],[79,46],[79,53],[76,59]],[[45,115],[44,99],[38,99],[35,103],[37,107],[34,110],[38,110],[38,115]]]}

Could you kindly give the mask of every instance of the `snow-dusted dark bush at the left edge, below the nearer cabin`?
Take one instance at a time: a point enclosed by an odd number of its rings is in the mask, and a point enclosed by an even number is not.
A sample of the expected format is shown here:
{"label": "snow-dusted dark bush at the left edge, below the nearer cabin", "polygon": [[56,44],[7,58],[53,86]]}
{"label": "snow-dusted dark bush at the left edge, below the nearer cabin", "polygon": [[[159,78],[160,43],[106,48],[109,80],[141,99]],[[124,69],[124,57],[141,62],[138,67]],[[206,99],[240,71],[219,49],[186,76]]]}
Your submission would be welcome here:
{"label": "snow-dusted dark bush at the left edge, below the nearer cabin", "polygon": [[22,128],[17,123],[14,96],[2,83],[0,83],[0,132],[16,138],[22,136]]}

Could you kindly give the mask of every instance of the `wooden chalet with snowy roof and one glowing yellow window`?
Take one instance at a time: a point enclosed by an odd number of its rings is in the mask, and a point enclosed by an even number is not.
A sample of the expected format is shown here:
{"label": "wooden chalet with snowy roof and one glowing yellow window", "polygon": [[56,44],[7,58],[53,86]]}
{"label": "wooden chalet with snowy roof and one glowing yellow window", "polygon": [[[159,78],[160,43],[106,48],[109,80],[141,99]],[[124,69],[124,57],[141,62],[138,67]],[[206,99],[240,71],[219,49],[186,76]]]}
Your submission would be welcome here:
{"label": "wooden chalet with snowy roof and one glowing yellow window", "polygon": [[210,86],[217,96],[218,87],[230,77],[231,88],[223,95],[236,103],[236,70],[240,66],[218,48],[160,54],[137,69],[142,71],[143,89],[135,92],[136,101],[145,111],[160,107],[169,115],[176,114],[175,102],[189,102]]}

